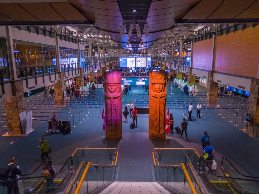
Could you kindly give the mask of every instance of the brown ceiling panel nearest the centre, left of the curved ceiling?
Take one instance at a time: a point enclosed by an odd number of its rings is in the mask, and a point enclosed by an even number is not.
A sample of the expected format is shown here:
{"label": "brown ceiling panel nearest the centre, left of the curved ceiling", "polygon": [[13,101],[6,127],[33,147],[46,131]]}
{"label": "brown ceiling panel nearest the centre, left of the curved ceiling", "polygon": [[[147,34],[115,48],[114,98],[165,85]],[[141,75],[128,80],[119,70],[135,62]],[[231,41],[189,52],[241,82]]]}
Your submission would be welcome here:
{"label": "brown ceiling panel nearest the centre, left of the curved ceiling", "polygon": [[53,9],[65,20],[83,20],[86,21],[87,19],[71,4],[69,3],[49,3]]}

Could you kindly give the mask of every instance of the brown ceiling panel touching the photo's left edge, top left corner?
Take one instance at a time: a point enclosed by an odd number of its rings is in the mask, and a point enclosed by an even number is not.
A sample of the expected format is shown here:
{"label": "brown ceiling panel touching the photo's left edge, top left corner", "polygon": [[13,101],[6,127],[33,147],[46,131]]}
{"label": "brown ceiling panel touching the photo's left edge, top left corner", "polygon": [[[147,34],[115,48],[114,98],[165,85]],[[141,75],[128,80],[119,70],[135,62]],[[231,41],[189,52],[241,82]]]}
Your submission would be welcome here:
{"label": "brown ceiling panel touching the photo's left edge, top left corner", "polygon": [[0,13],[15,21],[38,21],[17,3],[0,3]]}

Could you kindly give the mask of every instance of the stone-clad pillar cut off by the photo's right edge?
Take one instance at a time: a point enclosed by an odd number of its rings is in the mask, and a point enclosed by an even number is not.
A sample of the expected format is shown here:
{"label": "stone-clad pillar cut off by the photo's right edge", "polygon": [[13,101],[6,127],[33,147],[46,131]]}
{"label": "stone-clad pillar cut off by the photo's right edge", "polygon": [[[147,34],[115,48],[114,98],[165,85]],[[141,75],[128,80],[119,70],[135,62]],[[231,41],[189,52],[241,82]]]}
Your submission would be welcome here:
{"label": "stone-clad pillar cut off by the photo's right edge", "polygon": [[252,79],[248,102],[248,113],[251,114],[250,123],[247,123],[247,132],[259,137],[259,80]]}

